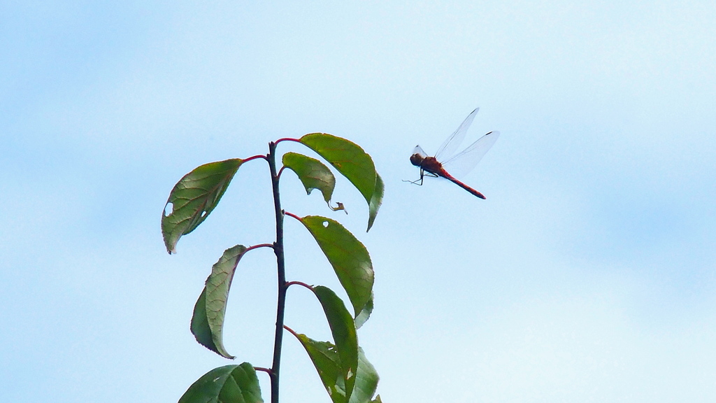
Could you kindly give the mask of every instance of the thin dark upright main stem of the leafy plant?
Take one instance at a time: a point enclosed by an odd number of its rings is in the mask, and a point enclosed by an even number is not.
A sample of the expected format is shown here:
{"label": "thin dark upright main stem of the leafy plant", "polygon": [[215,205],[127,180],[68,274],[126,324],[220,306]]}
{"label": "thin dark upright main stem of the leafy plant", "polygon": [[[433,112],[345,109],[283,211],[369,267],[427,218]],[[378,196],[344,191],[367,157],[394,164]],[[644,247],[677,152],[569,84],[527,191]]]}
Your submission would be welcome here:
{"label": "thin dark upright main stem of the leafy plant", "polygon": [[276,267],[279,274],[279,298],[276,303],[276,337],[274,338],[274,361],[271,364],[271,403],[279,403],[279,371],[281,369],[281,345],[284,340],[284,312],[286,310],[286,261],[284,259],[284,212],[281,211],[279,196],[279,175],[276,173],[276,143],[269,143],[269,169],[271,185],[274,189],[274,209],[276,210]]}

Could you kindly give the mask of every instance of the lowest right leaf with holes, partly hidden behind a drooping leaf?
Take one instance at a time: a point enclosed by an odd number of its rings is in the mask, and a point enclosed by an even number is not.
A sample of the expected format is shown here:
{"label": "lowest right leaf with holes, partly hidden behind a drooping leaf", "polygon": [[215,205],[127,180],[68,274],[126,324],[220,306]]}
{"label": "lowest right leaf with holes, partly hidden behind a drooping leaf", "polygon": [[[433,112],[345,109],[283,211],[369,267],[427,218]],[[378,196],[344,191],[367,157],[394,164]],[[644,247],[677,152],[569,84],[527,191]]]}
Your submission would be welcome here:
{"label": "lowest right leaf with holes, partly hidden behind a drooping leaf", "polygon": [[[333,403],[346,403],[345,385],[341,376],[341,359],[336,347],[327,341],[315,341],[304,334],[295,334],[314,363],[321,381]],[[358,349],[358,370],[349,403],[369,403],[378,386],[379,376]]]}

